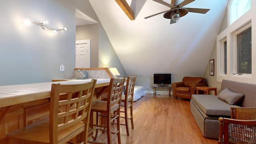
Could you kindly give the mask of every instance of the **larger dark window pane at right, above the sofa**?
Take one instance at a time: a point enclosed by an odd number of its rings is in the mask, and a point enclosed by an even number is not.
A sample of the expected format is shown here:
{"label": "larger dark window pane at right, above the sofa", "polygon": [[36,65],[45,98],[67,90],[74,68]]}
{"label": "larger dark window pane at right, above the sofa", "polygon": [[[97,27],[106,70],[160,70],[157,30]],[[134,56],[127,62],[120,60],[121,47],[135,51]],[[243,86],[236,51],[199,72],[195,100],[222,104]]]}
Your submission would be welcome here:
{"label": "larger dark window pane at right, above the sofa", "polygon": [[237,35],[237,73],[252,74],[252,28]]}

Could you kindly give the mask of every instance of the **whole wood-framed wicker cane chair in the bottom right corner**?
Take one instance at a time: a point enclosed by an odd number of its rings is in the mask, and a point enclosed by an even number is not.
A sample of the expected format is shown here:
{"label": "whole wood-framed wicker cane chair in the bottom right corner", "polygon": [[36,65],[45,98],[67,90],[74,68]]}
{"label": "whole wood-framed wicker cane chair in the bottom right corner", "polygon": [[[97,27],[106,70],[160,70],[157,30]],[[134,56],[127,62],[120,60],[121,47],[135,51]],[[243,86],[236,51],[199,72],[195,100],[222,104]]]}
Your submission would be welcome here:
{"label": "whole wood-framed wicker cane chair in the bottom right corner", "polygon": [[219,118],[218,144],[256,144],[256,108],[230,109],[231,118]]}

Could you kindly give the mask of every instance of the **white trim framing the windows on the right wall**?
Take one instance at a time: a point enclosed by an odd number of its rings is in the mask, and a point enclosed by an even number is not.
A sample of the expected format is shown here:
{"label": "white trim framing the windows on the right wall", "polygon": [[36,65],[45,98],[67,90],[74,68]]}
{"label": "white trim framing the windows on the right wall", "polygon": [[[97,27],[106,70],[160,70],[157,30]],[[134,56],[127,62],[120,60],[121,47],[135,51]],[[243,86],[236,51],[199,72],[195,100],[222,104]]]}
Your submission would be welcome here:
{"label": "white trim framing the windows on the right wall", "polygon": [[[222,82],[223,79],[225,80],[232,80],[236,82],[246,82],[246,83],[252,83],[255,84],[256,82],[256,44],[254,44],[254,39],[256,38],[256,31],[254,28],[256,28],[256,2],[251,1],[251,9],[248,10],[244,15],[242,15],[240,18],[238,18],[234,23],[230,25],[230,3],[231,0],[228,2],[227,6],[227,13],[224,17],[224,20],[226,19],[228,22],[226,23],[226,28],[218,33],[216,36],[216,80],[217,82]],[[242,26],[245,26],[246,24],[250,23],[252,27],[252,74],[250,76],[246,76],[246,74],[243,75],[234,75],[233,69],[232,69],[232,63],[234,63],[234,56],[231,57],[232,52],[234,52],[233,47],[231,46],[234,43],[234,38],[232,37],[232,33],[234,33],[236,30],[241,28]],[[222,24],[225,24],[224,21]],[[223,75],[223,73],[220,72],[220,69],[222,68],[222,62],[221,62],[221,47],[222,47],[222,40],[224,38],[227,38],[227,74]],[[233,44],[234,46],[234,44]],[[234,54],[233,54],[234,55]],[[222,69],[223,70],[223,69]]]}

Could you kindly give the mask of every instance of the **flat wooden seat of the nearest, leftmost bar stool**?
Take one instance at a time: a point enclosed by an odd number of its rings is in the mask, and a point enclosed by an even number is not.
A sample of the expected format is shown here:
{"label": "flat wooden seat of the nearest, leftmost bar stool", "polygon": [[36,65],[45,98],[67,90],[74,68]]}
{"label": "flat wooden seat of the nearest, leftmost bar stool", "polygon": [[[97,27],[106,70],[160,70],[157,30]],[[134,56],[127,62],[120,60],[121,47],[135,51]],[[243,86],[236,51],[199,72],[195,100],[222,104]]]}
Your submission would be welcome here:
{"label": "flat wooden seat of the nearest, leftmost bar stool", "polygon": [[[70,128],[59,131],[58,141],[64,140],[65,138],[69,139],[69,136],[70,134],[72,134],[74,129],[79,129],[79,131],[77,132],[79,134],[84,130],[84,123],[81,121],[74,124],[74,126]],[[22,139],[27,140],[27,142],[34,141],[36,142],[36,144],[49,143],[49,118],[36,122],[34,124],[30,124],[29,126],[16,130],[14,132],[10,132],[6,134],[6,136],[15,140]]]}

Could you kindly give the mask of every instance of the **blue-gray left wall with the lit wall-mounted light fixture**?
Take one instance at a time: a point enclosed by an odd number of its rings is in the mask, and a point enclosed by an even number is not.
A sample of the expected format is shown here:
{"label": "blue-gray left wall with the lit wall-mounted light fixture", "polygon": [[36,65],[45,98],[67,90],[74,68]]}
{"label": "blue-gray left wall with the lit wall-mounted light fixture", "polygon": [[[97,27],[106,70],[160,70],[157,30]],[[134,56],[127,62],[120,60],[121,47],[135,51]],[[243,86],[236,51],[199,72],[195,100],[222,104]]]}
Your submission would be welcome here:
{"label": "blue-gray left wall with the lit wall-mounted light fixture", "polygon": [[[76,9],[99,22],[88,0],[1,0],[0,9],[0,85],[74,77]],[[55,35],[36,24],[25,26],[24,20],[48,20],[51,28],[67,27],[68,31]],[[102,61],[104,58],[97,59],[104,53],[111,53],[106,58],[114,56],[115,52],[101,25],[96,33],[101,36],[99,42],[92,41],[92,66],[117,67],[122,76],[126,76],[117,56],[106,65]],[[97,49],[97,43],[102,48]],[[65,66],[64,72],[60,72],[61,64]]]}

